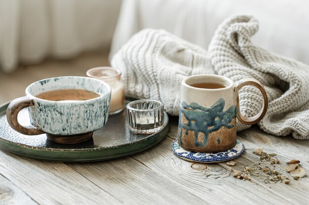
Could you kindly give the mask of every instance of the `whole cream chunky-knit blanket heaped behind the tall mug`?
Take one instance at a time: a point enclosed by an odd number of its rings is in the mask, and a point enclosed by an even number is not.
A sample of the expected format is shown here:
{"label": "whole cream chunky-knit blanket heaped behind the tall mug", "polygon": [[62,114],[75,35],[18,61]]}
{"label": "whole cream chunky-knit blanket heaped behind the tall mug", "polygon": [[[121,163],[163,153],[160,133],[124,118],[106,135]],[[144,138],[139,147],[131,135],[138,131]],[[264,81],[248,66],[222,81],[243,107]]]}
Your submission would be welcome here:
{"label": "whole cream chunky-knit blanket heaped behind the tall mug", "polygon": [[[252,16],[232,16],[224,21],[208,52],[164,30],[145,29],[135,34],[113,57],[122,71],[126,95],[152,98],[166,111],[178,115],[181,81],[195,74],[219,74],[234,82],[253,77],[263,83],[269,108],[258,123],[273,135],[309,139],[309,66],[252,44],[258,31]],[[287,39],[288,40],[288,39]],[[257,114],[263,98],[258,89],[239,91],[241,113]],[[237,130],[248,128],[237,122]]]}

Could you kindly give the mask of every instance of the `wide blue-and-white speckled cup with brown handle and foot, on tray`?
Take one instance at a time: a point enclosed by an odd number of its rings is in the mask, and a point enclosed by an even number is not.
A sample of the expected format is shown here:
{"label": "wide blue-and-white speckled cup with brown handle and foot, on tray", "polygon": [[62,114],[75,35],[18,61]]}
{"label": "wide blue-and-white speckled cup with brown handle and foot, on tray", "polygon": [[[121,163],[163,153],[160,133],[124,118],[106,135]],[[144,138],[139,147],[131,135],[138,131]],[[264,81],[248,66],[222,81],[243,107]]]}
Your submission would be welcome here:
{"label": "wide blue-and-white speckled cup with brown handle and foot, on tray", "polygon": [[[50,101],[38,94],[59,89],[84,89],[99,97],[80,101]],[[26,96],[13,100],[6,112],[7,121],[25,135],[46,133],[56,143],[76,144],[92,138],[92,133],[105,125],[109,115],[111,88],[103,81],[86,77],[57,77],[35,82],[26,88]],[[19,111],[28,107],[32,126],[18,123]]]}

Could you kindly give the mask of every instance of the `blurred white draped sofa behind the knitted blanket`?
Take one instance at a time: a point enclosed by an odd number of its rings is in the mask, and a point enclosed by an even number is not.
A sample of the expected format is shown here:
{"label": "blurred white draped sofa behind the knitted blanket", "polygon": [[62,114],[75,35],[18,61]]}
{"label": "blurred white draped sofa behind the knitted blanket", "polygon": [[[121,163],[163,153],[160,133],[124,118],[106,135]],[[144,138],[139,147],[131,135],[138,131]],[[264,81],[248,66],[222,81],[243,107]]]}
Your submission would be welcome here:
{"label": "blurred white draped sofa behind the knitted blanket", "polygon": [[308,0],[123,0],[110,58],[144,28],[165,29],[207,49],[218,25],[240,13],[259,20],[256,45],[309,64],[308,11]]}

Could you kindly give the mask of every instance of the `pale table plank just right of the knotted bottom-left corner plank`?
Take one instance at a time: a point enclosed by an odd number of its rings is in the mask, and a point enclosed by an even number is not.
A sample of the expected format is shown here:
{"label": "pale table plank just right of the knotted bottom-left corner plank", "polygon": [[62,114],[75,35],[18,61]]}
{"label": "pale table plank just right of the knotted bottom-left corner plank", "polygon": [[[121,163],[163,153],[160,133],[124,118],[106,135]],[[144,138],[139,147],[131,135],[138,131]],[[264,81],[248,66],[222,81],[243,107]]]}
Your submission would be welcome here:
{"label": "pale table plank just right of the knotted bottom-left corner plank", "polygon": [[121,204],[108,191],[64,163],[38,161],[0,151],[0,173],[42,205]]}

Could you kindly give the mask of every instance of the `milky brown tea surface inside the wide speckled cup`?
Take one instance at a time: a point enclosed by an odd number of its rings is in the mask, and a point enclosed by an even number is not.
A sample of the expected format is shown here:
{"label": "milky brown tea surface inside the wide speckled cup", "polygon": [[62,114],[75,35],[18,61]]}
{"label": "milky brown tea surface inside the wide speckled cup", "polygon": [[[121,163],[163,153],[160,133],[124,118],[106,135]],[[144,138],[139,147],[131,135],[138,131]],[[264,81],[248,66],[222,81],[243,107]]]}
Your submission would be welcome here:
{"label": "milky brown tea surface inside the wide speckled cup", "polygon": [[56,89],[42,92],[36,97],[51,101],[81,101],[101,96],[99,93],[84,89]]}

